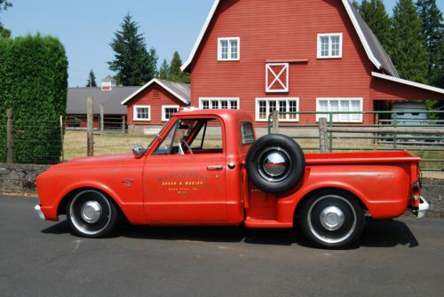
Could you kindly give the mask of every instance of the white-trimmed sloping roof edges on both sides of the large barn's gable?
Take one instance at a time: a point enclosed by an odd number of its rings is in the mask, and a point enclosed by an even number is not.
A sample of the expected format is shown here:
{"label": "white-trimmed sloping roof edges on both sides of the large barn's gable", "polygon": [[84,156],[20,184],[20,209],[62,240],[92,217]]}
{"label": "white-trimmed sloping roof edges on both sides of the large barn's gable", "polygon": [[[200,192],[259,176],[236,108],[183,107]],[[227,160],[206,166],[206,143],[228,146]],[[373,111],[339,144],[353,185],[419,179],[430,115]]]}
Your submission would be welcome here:
{"label": "white-trimmed sloping roof edges on both sides of the large barn's gable", "polygon": [[[195,54],[199,49],[200,44],[202,43],[203,36],[206,34],[208,27],[210,26],[210,22],[213,19],[216,11],[218,10],[218,5],[221,1],[222,0],[214,1],[214,4],[210,10],[210,14],[208,15],[208,18],[207,20],[205,20],[205,23],[202,27],[201,33],[194,43],[193,50],[182,66],[182,71],[188,70],[188,67],[193,62]],[[353,27],[355,28],[356,33],[359,35],[362,46],[364,47],[370,61],[377,67],[377,69],[384,71],[386,74],[391,74],[394,77],[399,77],[398,72],[393,66],[392,60],[390,59],[389,55],[385,52],[383,46],[377,40],[377,36],[373,34],[366,22],[362,20],[359,12],[357,12],[354,9],[353,5],[350,4],[347,0],[341,1],[344,4],[345,11],[348,13],[350,20],[352,20]]]}

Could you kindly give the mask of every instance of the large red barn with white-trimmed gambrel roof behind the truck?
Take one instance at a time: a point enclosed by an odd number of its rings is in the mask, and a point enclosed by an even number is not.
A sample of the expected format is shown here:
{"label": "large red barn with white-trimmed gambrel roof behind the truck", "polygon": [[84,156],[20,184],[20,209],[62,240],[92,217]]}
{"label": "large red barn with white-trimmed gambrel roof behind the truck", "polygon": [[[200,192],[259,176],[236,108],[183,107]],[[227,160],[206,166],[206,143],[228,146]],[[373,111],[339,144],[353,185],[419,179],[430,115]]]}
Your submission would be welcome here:
{"label": "large red barn with white-trimmed gambrel roof behind the truck", "polygon": [[[444,99],[442,89],[400,79],[347,0],[216,0],[182,70],[191,74],[192,106],[242,108],[259,127],[275,109],[369,111],[392,100]],[[314,123],[316,116],[281,121]],[[334,121],[374,119],[340,114]]]}

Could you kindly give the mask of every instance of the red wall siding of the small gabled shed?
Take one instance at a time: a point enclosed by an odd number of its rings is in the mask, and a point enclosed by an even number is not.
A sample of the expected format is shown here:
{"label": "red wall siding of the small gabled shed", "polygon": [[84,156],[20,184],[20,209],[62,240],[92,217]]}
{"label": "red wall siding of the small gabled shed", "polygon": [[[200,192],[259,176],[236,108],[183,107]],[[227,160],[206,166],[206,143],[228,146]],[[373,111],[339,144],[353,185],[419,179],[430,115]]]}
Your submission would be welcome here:
{"label": "red wall siding of the small gabled shed", "polygon": [[[156,83],[143,90],[136,98],[132,98],[127,105],[130,125],[163,125],[165,121],[162,121],[162,106],[186,106]],[[133,121],[134,106],[151,106],[151,121]]]}

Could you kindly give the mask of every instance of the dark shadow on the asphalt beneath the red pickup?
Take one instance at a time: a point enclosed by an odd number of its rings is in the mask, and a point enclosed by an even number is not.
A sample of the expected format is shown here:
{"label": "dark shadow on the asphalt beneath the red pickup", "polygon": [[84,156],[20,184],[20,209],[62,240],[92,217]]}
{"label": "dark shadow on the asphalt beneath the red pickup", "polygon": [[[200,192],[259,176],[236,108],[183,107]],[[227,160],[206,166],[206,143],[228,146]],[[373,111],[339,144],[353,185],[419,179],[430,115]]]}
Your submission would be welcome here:
{"label": "dark shadow on the asphalt beneath the red pickup", "polygon": [[[62,221],[42,231],[47,234],[70,233],[67,221]],[[139,238],[196,242],[244,242],[252,245],[307,246],[313,247],[302,232],[292,229],[247,229],[240,227],[150,227],[123,224],[112,238]],[[367,220],[366,227],[356,246],[393,247],[419,246],[408,226],[397,220]]]}

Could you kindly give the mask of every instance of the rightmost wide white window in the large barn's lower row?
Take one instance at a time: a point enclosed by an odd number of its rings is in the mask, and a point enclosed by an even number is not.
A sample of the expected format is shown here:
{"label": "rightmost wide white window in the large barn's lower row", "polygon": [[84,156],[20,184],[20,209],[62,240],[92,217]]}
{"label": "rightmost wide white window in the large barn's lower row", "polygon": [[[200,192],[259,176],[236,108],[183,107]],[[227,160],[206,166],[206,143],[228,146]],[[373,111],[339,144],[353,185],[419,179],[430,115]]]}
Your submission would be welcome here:
{"label": "rightmost wide white window in the large barn's lower row", "polygon": [[332,113],[332,120],[336,122],[361,122],[362,98],[317,98],[316,112],[318,112],[316,121],[319,121],[320,118],[327,118],[327,121],[329,121],[329,113],[320,112],[341,112]]}

